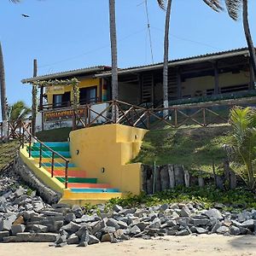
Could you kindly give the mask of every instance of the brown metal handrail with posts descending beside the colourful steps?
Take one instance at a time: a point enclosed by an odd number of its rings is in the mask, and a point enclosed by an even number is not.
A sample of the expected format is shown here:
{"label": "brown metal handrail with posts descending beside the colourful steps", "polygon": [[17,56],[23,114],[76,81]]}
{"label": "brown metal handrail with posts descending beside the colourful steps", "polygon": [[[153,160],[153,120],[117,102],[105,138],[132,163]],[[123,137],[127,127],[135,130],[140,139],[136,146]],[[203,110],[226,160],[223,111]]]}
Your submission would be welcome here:
{"label": "brown metal handrail with posts descending beside the colourful steps", "polygon": [[25,141],[24,141],[25,131],[29,135],[29,149],[28,149],[29,157],[31,157],[31,155],[32,155],[32,149],[31,149],[32,138],[36,142],[38,142],[40,144],[40,146],[39,146],[39,167],[42,166],[43,147],[47,148],[49,150],[49,152],[51,152],[51,156],[50,156],[50,158],[51,158],[51,177],[54,177],[55,155],[58,155],[62,160],[65,161],[65,189],[67,189],[67,184],[68,184],[68,163],[69,163],[69,160],[67,160],[66,157],[64,157],[63,155],[59,154],[58,152],[56,152],[52,148],[49,148],[49,146],[47,146],[45,143],[43,143],[40,140],[38,140],[38,137],[34,137],[32,135],[32,133],[26,129],[25,124],[22,121],[20,122],[20,124],[22,124],[22,128],[23,128],[22,137],[21,137],[21,146],[22,146],[22,148],[24,148],[24,145],[25,145]]}

